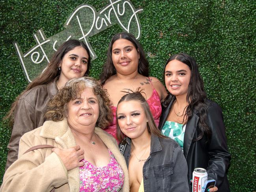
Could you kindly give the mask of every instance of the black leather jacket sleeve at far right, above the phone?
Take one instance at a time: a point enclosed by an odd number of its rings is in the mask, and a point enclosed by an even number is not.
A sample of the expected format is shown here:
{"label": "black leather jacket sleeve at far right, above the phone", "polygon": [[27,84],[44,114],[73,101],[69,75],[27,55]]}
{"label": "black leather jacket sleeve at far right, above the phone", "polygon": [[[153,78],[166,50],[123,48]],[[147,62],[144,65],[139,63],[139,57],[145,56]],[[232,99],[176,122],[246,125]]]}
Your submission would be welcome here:
{"label": "black leather jacket sleeve at far right, above the phone", "polygon": [[217,103],[213,103],[207,112],[208,126],[212,131],[209,144],[208,179],[215,179],[216,186],[220,186],[226,175],[231,155],[228,152],[222,110]]}

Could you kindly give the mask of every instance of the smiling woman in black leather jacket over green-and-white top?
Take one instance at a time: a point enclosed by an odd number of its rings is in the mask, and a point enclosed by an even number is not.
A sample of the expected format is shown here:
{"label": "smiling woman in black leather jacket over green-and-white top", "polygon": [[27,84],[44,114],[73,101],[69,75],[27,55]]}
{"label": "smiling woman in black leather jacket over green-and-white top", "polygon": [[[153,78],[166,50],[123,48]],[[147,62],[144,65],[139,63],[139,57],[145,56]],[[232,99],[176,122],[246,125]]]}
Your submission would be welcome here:
{"label": "smiling woman in black leather jacket over green-and-white top", "polygon": [[159,129],[183,149],[188,164],[190,191],[194,168],[205,168],[210,191],[229,192],[227,169],[230,163],[222,110],[206,98],[196,61],[185,53],[171,56],[164,67],[169,95],[162,103]]}

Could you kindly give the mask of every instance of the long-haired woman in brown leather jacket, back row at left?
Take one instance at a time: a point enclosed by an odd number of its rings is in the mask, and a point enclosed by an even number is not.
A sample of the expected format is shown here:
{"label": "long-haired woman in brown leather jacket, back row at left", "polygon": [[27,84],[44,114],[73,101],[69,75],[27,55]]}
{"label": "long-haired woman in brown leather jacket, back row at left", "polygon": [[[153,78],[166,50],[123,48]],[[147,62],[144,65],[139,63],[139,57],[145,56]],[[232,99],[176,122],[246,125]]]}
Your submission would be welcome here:
{"label": "long-haired woman in brown leather jacket, back row at left", "polygon": [[16,98],[6,119],[13,125],[7,168],[18,157],[21,136],[43,125],[44,113],[50,99],[58,89],[72,78],[86,76],[90,69],[88,47],[78,40],[68,40],[55,52],[47,68],[37,76],[26,89]]}

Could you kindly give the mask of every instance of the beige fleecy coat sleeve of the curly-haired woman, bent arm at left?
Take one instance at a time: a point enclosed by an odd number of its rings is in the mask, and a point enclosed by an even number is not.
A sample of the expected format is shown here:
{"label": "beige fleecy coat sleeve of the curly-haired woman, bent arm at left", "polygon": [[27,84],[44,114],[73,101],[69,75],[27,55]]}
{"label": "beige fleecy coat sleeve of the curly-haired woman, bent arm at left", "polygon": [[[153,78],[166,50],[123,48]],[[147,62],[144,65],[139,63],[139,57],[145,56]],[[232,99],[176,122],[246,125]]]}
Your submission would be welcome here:
{"label": "beige fleecy coat sleeve of the curly-haired woman, bent arm at left", "polygon": [[19,158],[6,171],[0,191],[49,192],[68,182],[67,170],[56,153],[45,158],[46,151],[37,149],[24,155],[23,152],[32,146],[41,144],[40,138],[25,134],[21,138]]}

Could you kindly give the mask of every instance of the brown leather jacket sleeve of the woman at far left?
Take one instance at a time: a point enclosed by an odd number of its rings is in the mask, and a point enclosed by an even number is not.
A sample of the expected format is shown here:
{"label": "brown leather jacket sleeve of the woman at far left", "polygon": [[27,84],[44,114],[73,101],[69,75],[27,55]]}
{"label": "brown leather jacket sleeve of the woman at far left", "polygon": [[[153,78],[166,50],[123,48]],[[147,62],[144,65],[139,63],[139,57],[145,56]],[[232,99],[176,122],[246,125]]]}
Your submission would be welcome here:
{"label": "brown leather jacket sleeve of the woman at far left", "polygon": [[15,119],[11,138],[8,144],[6,170],[18,158],[19,141],[21,136],[35,129],[35,107],[25,99],[19,99],[15,110]]}

